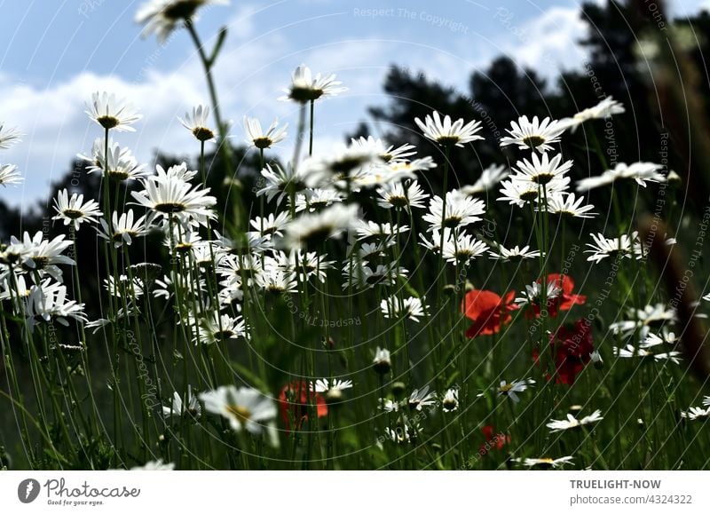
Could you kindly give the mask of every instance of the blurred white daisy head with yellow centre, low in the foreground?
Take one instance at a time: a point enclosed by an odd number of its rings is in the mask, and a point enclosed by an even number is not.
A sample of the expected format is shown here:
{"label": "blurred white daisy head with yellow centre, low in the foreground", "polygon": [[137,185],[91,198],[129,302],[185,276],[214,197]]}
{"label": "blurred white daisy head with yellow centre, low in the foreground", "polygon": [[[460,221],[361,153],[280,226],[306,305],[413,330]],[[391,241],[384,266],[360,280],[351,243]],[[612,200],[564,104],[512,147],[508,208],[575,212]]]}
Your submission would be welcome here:
{"label": "blurred white daisy head with yellow centre, low in the foreground", "polygon": [[250,387],[222,385],[214,391],[202,392],[198,398],[207,412],[221,415],[237,432],[260,435],[271,431],[277,415],[273,400]]}

